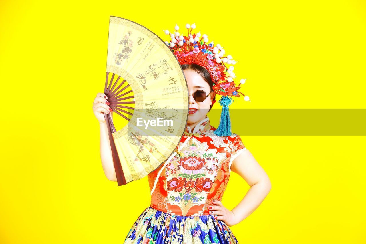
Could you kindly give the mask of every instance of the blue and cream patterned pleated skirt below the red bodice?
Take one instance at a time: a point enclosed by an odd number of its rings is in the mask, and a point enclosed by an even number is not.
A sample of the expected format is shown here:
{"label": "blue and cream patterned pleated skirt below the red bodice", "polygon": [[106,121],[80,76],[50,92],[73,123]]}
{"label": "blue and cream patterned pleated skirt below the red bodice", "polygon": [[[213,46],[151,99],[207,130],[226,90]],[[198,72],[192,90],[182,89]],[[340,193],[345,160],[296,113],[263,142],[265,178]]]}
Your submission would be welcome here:
{"label": "blue and cream patterned pleated skirt below the red bodice", "polygon": [[229,226],[214,215],[180,216],[147,207],[127,234],[124,244],[236,244]]}

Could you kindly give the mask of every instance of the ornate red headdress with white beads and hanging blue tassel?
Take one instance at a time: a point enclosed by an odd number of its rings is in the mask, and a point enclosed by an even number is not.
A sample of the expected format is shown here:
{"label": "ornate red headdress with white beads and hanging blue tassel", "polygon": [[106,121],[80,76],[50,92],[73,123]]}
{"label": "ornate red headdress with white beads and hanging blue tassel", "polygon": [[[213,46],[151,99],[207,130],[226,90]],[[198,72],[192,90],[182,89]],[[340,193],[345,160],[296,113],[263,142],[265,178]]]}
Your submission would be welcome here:
{"label": "ornate red headdress with white beads and hanging blue tassel", "polygon": [[175,25],[174,33],[164,30],[164,33],[171,38],[170,41],[165,41],[165,43],[171,48],[181,65],[199,64],[209,71],[214,82],[213,90],[216,94],[221,95],[219,103],[223,107],[219,127],[217,127],[214,133],[217,136],[230,136],[231,122],[228,106],[234,101],[232,96],[240,97],[239,93],[244,96],[245,101],[250,101],[248,96],[238,91],[240,85],[244,84],[246,79],[241,79],[239,85],[235,86],[234,66],[230,66],[227,69],[225,63],[234,65],[237,61],[233,60],[231,55],[224,56],[225,50],[220,44],[214,46],[213,41],[210,44],[206,44],[208,42],[206,34],[202,35],[202,37],[200,32],[191,34],[195,27],[195,24],[186,24],[188,36],[183,36],[183,34],[178,32],[179,26],[177,24]]}

